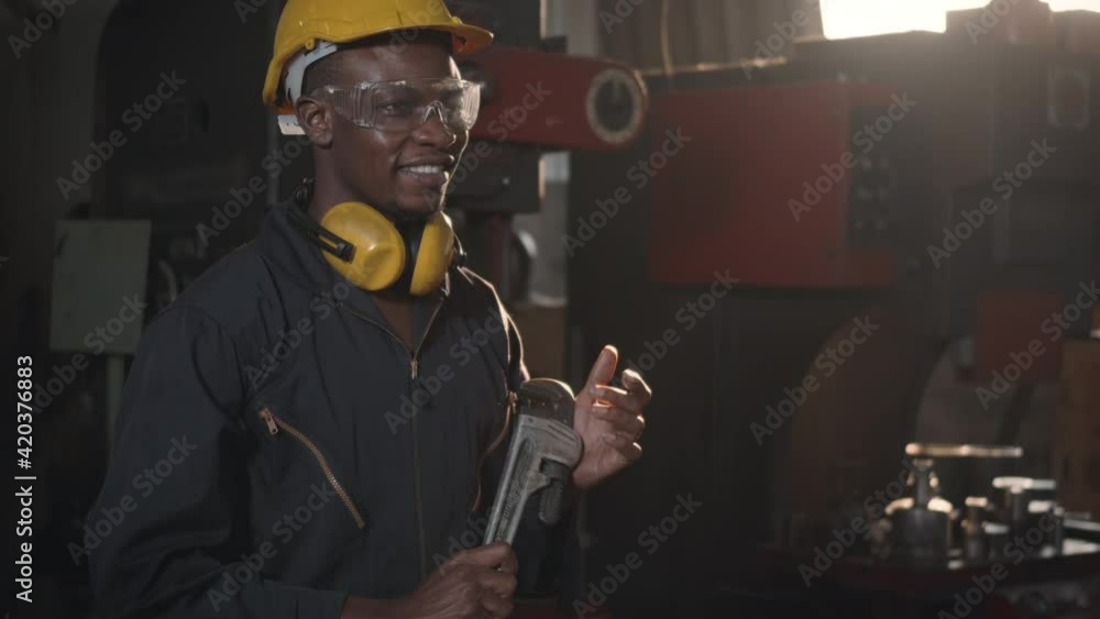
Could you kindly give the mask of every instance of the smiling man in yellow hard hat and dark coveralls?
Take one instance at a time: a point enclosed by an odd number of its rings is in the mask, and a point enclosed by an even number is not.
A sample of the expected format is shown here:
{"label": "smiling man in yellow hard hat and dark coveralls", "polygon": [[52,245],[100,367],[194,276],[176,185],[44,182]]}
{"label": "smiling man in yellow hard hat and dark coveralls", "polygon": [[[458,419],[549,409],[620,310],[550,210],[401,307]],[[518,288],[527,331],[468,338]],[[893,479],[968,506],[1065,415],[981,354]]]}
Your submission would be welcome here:
{"label": "smiling man in yellow hard hat and dark coveralls", "polygon": [[[314,144],[316,180],[143,339],[91,512],[105,617],[512,611],[537,521],[518,557],[447,559],[484,522],[528,378],[441,214],[476,111],[452,53],[490,38],[441,0],[287,3],[265,99]],[[582,491],[641,453],[650,391],[630,371],[608,385],[616,364],[605,347],[578,396]]]}

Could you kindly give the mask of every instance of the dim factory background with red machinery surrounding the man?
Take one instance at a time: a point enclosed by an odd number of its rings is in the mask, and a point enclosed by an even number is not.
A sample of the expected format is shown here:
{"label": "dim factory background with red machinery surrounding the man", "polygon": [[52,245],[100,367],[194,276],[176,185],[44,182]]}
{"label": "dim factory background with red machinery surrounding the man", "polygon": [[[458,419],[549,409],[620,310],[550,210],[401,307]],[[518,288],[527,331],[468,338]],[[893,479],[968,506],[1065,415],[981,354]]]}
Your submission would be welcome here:
{"label": "dim factory background with red machinery surrounding the man", "polygon": [[[448,4],[497,35],[474,268],[532,375],[609,342],[656,394],[516,617],[1100,617],[1100,0]],[[41,617],[92,616],[69,544],[142,324],[309,168],[260,99],[280,8],[0,1]]]}

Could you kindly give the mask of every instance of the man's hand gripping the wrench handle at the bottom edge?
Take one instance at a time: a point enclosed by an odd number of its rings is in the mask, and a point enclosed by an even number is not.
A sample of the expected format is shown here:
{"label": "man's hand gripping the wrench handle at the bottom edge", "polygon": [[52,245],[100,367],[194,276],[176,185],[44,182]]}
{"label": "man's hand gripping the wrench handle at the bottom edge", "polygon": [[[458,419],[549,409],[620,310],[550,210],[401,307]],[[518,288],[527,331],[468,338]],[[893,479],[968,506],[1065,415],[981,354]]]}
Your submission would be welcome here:
{"label": "man's hand gripping the wrench handle at the bottom edge", "polygon": [[[499,570],[497,570],[499,566]],[[396,617],[482,619],[512,614],[516,554],[505,542],[462,551],[397,603]]]}

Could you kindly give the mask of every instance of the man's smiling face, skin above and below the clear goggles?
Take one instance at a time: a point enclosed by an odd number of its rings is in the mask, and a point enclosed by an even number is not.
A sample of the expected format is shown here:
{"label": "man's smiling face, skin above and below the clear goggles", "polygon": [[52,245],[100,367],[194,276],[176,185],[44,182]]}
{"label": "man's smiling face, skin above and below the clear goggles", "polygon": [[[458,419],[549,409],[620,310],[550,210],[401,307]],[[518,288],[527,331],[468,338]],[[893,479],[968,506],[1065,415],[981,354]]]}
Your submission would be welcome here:
{"label": "man's smiling face, skin above and below the clear goggles", "polygon": [[[320,76],[311,75],[312,67],[307,73],[307,88],[460,77],[444,36],[421,32],[399,52],[388,47],[387,36],[375,41],[322,59],[327,66],[318,71]],[[469,131],[448,128],[436,112],[408,131],[366,129],[334,113],[331,104],[322,104],[329,111],[322,140],[328,143],[321,144],[319,157],[327,159],[332,180],[348,199],[397,219],[422,219],[442,209],[447,184],[470,141]],[[319,159],[318,166],[321,164]]]}

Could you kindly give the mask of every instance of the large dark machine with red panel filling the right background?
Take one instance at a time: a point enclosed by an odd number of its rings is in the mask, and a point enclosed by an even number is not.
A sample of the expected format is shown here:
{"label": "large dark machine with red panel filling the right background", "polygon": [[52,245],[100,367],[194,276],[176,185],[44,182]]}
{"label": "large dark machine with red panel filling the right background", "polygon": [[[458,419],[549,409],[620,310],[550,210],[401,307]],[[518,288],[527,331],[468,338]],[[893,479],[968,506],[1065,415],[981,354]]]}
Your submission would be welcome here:
{"label": "large dark machine with red panel filling the right background", "polygon": [[[638,145],[573,157],[570,221],[628,170],[653,170],[570,263],[573,357],[607,340],[652,357],[669,342],[644,367],[659,461],[593,499],[593,533],[610,549],[597,563],[668,496],[691,489],[708,510],[670,542],[690,551],[670,548],[631,579],[624,597],[639,612],[669,588],[792,605],[836,588],[950,598],[960,572],[887,573],[867,556],[807,593],[795,551],[833,541],[911,441],[1022,445],[1007,474],[1054,476],[1053,441],[1035,429],[1057,404],[1046,396],[1067,372],[1064,343],[1088,336],[1097,301],[1082,286],[1100,263],[1100,57],[1081,36],[1089,20],[1059,20],[1042,45],[992,27],[977,43],[965,30],[800,41],[751,80],[738,67],[654,76]],[[670,131],[691,139],[675,155],[662,148]],[[586,281],[597,270],[615,274],[616,303]],[[712,295],[716,272],[740,279],[732,294]],[[856,319],[876,325],[866,343],[849,336]],[[939,482],[964,498],[988,489],[954,471]],[[625,500],[637,518],[622,516]],[[761,570],[765,544],[781,549],[784,574]],[[1036,559],[1013,587],[1078,578],[1100,561],[1085,554]],[[879,576],[897,587],[866,582]],[[822,606],[799,615],[835,610]]]}

